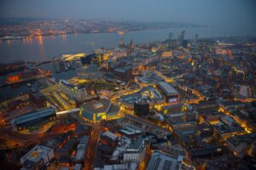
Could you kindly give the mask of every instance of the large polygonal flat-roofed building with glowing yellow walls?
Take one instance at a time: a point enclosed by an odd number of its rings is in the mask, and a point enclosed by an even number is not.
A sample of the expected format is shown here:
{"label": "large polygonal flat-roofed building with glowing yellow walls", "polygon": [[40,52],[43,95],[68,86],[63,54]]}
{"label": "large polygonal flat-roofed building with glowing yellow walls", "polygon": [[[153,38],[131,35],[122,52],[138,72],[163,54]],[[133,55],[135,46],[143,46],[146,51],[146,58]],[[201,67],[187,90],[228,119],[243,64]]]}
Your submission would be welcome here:
{"label": "large polygonal flat-roofed building with glowing yellow walls", "polygon": [[96,99],[80,105],[80,111],[86,120],[98,122],[118,117],[119,106],[109,99]]}

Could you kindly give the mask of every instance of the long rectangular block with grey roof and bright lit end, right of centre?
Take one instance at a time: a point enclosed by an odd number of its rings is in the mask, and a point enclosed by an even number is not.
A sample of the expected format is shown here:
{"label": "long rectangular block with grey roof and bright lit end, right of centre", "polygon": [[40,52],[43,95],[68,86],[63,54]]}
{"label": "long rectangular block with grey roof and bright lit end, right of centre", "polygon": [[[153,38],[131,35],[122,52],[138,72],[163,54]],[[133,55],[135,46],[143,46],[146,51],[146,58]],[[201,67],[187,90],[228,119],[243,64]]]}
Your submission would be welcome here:
{"label": "long rectangular block with grey roof and bright lit end, right of centre", "polygon": [[168,82],[158,82],[157,87],[164,95],[166,103],[177,103],[180,99],[180,94]]}

